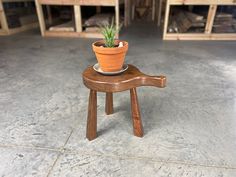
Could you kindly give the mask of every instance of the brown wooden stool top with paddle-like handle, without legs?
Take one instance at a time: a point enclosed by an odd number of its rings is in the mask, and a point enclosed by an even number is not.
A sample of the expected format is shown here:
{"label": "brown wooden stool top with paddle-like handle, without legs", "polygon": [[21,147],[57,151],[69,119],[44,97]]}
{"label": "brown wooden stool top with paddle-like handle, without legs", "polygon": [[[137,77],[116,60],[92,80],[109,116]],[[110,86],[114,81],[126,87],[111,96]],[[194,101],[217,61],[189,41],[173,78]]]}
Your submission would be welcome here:
{"label": "brown wooden stool top with paddle-like handle, without legs", "polygon": [[92,66],[83,72],[86,87],[99,92],[121,92],[139,86],[165,87],[165,76],[148,76],[133,65],[119,75],[106,76],[96,72]]}

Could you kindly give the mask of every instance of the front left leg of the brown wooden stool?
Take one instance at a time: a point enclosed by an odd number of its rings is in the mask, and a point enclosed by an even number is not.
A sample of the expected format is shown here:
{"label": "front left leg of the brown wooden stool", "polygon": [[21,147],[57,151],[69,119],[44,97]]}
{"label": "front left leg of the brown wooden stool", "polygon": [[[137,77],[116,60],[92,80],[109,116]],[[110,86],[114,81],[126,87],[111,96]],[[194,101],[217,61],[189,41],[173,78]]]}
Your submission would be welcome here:
{"label": "front left leg of the brown wooden stool", "polygon": [[89,141],[97,137],[97,92],[94,90],[89,94],[86,137]]}

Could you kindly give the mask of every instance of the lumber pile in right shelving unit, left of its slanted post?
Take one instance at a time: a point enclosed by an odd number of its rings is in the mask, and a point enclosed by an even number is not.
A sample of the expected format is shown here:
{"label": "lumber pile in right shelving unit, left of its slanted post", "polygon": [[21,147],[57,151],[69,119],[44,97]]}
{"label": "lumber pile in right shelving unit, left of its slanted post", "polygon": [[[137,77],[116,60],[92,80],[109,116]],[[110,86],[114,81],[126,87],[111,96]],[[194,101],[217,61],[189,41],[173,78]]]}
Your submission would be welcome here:
{"label": "lumber pile in right shelving unit, left of its slanted post", "polygon": [[205,23],[206,19],[204,16],[192,13],[190,11],[179,10],[171,17],[168,32],[186,33],[190,30],[191,32],[201,32],[204,30]]}

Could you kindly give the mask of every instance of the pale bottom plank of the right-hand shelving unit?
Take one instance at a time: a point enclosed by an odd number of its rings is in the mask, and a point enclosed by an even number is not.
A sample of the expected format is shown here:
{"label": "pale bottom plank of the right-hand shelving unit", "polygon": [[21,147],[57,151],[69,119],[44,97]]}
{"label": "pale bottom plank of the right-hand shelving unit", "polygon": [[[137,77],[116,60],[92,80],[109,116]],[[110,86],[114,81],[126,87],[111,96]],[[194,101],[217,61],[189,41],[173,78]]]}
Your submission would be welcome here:
{"label": "pale bottom plank of the right-hand shelving unit", "polygon": [[236,40],[236,34],[222,33],[222,34],[166,34],[164,40]]}

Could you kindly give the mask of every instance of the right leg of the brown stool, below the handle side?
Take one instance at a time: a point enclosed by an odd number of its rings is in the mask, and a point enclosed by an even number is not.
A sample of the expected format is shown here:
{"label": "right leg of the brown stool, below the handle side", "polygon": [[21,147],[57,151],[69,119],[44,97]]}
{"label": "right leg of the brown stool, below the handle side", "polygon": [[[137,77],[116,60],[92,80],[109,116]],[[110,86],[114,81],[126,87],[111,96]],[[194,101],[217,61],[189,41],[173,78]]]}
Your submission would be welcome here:
{"label": "right leg of the brown stool, below the handle side", "polygon": [[136,88],[130,89],[131,110],[133,119],[134,135],[138,137],[143,136],[143,125],[138,105],[138,96]]}

